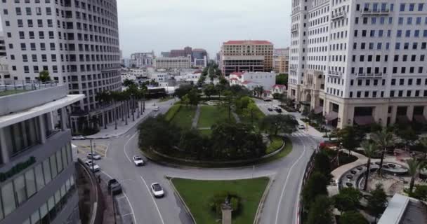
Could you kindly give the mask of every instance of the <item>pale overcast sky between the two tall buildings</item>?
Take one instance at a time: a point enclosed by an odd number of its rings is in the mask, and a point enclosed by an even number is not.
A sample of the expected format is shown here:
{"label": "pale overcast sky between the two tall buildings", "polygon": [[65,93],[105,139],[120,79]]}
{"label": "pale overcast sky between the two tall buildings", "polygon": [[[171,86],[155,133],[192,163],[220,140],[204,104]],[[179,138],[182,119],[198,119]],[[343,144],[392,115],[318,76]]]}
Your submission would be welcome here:
{"label": "pale overcast sky between the two tall buildings", "polygon": [[[289,0],[117,0],[120,48],[132,52],[206,49],[228,40],[268,40],[289,46]],[[0,27],[1,29],[1,27]]]}

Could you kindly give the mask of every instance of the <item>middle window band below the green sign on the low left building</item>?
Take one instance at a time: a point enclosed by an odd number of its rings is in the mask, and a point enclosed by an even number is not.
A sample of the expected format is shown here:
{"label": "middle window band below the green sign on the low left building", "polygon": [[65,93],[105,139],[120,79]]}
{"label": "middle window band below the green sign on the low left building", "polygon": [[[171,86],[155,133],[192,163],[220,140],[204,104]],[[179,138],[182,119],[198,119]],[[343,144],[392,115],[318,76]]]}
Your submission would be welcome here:
{"label": "middle window band below the green sign on the low left building", "polygon": [[[29,200],[72,163],[70,142],[1,187],[0,220]],[[2,206],[1,206],[2,205]]]}

